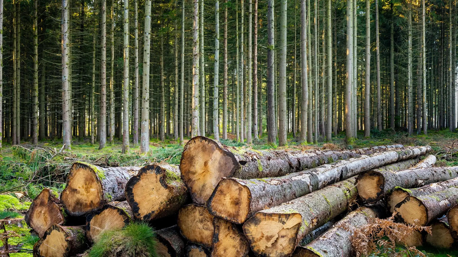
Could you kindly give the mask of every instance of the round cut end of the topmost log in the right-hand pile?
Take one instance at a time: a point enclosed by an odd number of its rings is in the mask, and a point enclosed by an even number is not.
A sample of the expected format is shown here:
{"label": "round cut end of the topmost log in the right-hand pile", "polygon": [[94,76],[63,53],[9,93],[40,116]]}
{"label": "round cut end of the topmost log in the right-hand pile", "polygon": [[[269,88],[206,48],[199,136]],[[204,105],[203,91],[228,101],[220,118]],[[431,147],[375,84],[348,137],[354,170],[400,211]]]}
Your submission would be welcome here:
{"label": "round cut end of the topmost log in the right-hand pile", "polygon": [[385,178],[378,171],[365,171],[356,179],[360,198],[367,203],[376,203],[383,197]]}

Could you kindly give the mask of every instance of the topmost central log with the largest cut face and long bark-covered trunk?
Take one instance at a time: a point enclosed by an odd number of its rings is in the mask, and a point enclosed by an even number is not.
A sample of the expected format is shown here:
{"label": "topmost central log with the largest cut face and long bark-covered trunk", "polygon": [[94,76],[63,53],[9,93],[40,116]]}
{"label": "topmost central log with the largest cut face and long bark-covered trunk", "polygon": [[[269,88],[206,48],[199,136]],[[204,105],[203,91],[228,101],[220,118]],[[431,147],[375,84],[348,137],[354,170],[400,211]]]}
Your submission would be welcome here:
{"label": "topmost central log with the largest cut face and long bark-covered trunk", "polygon": [[[397,147],[402,145],[393,145]],[[229,147],[203,136],[186,143],[181,155],[181,177],[194,203],[205,204],[223,177],[242,179],[279,177],[288,173],[389,150],[250,150]]]}

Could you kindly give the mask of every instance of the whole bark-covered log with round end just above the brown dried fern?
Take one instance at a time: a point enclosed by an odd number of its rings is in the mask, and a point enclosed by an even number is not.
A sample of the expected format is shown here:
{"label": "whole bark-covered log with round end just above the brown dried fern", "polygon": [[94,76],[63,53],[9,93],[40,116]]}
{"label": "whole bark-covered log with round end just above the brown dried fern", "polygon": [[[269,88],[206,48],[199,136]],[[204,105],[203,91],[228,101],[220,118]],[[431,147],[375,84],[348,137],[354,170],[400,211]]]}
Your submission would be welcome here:
{"label": "whole bark-covered log with round end just above the brown dried fern", "polygon": [[425,226],[457,202],[458,187],[450,187],[424,196],[408,196],[394,207],[394,211],[402,222]]}

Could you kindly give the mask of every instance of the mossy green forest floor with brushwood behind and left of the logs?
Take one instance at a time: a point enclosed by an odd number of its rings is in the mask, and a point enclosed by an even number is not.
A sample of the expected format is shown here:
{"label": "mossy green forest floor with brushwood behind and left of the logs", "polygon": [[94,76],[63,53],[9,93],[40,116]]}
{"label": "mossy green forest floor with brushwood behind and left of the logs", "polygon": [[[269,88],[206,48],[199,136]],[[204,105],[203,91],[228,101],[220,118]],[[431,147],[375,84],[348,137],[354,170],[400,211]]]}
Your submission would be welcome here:
{"label": "mossy green forest floor with brushwood behind and left of the logs", "polygon": [[[408,136],[404,131],[378,130],[371,131],[371,138],[364,139],[363,131],[358,131],[358,140],[354,145],[345,143],[344,132],[333,136],[333,143],[327,144],[320,141],[318,145],[300,145],[294,139],[292,133],[288,134],[288,146],[276,147],[278,149],[339,149],[339,148],[364,148],[375,145],[431,145],[432,153],[436,154],[438,161],[436,166],[458,165],[458,133],[444,130],[428,130],[427,135]],[[297,135],[299,136],[299,135]],[[213,137],[213,136],[212,136]],[[234,135],[230,135],[234,138]],[[11,146],[3,140],[3,149],[0,152],[0,219],[5,217],[21,217],[30,206],[30,202],[43,187],[52,187],[61,191],[65,187],[66,174],[70,166],[77,160],[104,163],[112,166],[142,166],[151,162],[167,162],[179,164],[183,147],[169,137],[164,142],[158,139],[150,140],[150,151],[147,154],[140,154],[138,146],[132,146],[127,154],[121,154],[122,141],[115,139],[113,144],[98,150],[98,144],[91,145],[88,138],[79,142],[74,138],[71,151],[62,150],[62,140],[46,140],[40,142],[39,148],[33,149],[28,142],[22,142],[20,146]],[[266,144],[267,134],[259,140],[253,140],[253,145],[248,146],[233,139],[221,140],[225,145],[238,147],[252,147],[254,149],[275,148]],[[185,142],[189,138],[185,138]],[[33,149],[33,150],[28,150]],[[453,149],[456,149],[456,153]],[[18,199],[14,192],[24,195]],[[19,248],[32,249],[36,236],[30,234],[30,228],[24,223],[7,226],[19,236],[12,237],[10,245],[17,245]],[[1,231],[3,232],[3,231]],[[0,250],[3,243],[0,242]],[[458,257],[458,250],[436,250],[422,247],[422,251],[429,257]],[[30,252],[12,253],[11,257],[31,257]],[[383,255],[377,255],[383,256]],[[375,256],[374,256],[375,257]],[[413,257],[413,256],[412,256]]]}

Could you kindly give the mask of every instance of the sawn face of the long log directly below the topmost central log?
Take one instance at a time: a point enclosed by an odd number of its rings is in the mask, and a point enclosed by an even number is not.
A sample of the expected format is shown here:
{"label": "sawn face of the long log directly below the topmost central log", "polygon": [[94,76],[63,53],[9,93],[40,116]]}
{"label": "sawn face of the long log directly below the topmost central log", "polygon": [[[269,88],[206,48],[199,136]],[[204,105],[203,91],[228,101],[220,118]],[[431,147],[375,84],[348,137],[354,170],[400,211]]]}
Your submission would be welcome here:
{"label": "sawn face of the long log directly below the topmost central log", "polygon": [[249,218],[251,192],[243,183],[224,178],[207,201],[208,211],[237,224]]}

